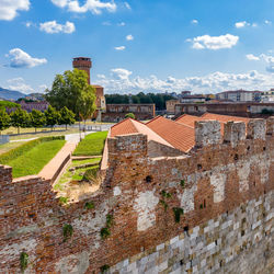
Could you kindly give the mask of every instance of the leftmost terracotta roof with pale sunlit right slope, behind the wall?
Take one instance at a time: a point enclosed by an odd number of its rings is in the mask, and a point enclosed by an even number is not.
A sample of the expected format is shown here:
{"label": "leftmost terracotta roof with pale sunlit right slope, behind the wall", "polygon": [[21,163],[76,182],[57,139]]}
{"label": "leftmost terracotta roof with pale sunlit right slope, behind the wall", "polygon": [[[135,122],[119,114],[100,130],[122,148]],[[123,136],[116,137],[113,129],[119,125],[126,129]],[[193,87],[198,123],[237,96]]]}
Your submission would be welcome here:
{"label": "leftmost terracotta roof with pale sunlit right slope, behind the wall", "polygon": [[171,144],[169,144],[167,140],[164,140],[161,136],[159,136],[157,133],[155,133],[152,129],[150,129],[146,124],[138,122],[133,118],[127,118],[118,124],[114,125],[111,128],[111,137],[115,137],[117,135],[127,135],[127,134],[144,134],[148,136],[148,140],[155,140],[157,142],[160,142],[162,145],[172,147]]}

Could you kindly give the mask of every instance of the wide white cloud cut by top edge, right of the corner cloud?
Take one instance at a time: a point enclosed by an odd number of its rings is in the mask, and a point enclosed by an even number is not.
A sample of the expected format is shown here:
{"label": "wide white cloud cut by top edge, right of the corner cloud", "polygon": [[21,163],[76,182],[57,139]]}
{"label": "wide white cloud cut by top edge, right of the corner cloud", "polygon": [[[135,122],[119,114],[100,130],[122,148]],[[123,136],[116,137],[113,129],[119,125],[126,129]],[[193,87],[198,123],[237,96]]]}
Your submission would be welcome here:
{"label": "wide white cloud cut by top edge, right of the corner cloud", "polygon": [[93,14],[101,14],[102,10],[115,12],[117,9],[117,5],[113,0],[109,2],[102,2],[101,0],[85,0],[83,4],[80,4],[78,0],[52,0],[52,2],[59,8],[66,8],[68,11],[77,13],[85,13],[90,11]]}

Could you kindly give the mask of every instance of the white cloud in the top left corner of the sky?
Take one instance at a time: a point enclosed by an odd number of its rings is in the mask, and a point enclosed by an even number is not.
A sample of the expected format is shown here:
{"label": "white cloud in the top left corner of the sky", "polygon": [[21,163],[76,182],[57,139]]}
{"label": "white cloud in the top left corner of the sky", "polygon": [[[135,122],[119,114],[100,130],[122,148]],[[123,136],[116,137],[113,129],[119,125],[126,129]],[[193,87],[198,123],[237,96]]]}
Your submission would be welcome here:
{"label": "white cloud in the top left corner of the sky", "polygon": [[0,0],[0,20],[11,21],[18,11],[28,11],[30,0]]}

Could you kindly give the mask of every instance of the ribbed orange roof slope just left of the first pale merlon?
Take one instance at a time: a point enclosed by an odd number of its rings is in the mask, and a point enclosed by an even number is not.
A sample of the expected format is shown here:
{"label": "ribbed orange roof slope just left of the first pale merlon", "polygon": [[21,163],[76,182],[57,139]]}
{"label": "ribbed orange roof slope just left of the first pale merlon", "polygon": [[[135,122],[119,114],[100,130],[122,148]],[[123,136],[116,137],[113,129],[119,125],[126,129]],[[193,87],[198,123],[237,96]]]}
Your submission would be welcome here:
{"label": "ribbed orange roof slope just left of the first pale merlon", "polygon": [[146,124],[174,148],[187,152],[195,145],[194,128],[157,116]]}

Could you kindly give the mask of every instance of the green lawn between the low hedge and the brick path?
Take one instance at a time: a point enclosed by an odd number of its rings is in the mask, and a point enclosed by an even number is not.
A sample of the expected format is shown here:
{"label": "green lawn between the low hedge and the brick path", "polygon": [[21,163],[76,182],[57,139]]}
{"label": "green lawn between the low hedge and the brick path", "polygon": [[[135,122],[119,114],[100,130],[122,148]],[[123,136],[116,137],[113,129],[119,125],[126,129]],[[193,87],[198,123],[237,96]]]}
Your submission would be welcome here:
{"label": "green lawn between the low hedge and the brick path", "polygon": [[38,172],[54,158],[65,145],[65,140],[41,142],[26,153],[8,161],[4,164],[12,167],[13,178],[38,174]]}

